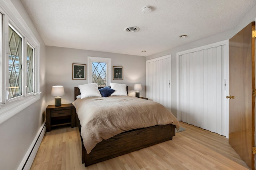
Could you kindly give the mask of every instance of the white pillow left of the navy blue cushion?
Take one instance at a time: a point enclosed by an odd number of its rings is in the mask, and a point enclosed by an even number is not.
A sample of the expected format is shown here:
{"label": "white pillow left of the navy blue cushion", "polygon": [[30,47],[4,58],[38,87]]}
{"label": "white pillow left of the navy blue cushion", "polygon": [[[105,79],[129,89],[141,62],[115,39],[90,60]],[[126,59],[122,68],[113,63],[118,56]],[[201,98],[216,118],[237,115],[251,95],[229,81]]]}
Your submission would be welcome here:
{"label": "white pillow left of the navy blue cushion", "polygon": [[81,99],[86,97],[102,97],[97,83],[79,85],[78,88],[80,89]]}

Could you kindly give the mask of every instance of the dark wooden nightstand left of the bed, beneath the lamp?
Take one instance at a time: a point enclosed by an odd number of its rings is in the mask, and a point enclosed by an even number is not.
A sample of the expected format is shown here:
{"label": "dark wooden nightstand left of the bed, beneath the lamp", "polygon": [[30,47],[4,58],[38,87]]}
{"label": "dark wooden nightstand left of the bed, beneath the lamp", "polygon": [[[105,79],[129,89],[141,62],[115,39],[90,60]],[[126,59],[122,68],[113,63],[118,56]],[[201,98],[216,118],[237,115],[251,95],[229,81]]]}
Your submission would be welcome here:
{"label": "dark wooden nightstand left of the bed, beneath the lamp", "polygon": [[51,131],[51,127],[60,125],[70,125],[76,127],[75,107],[70,104],[61,106],[49,105],[46,107],[46,132]]}

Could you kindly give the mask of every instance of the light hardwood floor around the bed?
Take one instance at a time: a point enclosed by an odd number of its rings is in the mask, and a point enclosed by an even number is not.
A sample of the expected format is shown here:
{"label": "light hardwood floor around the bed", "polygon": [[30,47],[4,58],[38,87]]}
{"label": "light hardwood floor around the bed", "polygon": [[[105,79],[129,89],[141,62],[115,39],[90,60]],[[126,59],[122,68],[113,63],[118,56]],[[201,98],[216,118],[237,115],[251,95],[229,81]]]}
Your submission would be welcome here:
{"label": "light hardwood floor around the bed", "polygon": [[180,122],[186,128],[172,140],[98,164],[82,164],[76,128],[46,132],[32,170],[246,170],[228,139]]}

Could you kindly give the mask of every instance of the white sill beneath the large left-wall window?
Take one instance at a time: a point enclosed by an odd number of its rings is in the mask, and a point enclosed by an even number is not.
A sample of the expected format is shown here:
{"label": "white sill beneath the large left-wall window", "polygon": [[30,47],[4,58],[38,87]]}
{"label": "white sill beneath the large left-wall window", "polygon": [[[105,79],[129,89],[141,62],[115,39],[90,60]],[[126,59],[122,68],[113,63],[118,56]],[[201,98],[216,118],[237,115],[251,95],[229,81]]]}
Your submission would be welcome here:
{"label": "white sill beneath the large left-wall window", "polygon": [[20,99],[17,101],[13,101],[9,103],[8,105],[3,104],[0,107],[0,124],[4,123],[20,111],[26,109],[36,101],[40,99],[40,94],[34,96],[31,95],[29,97],[26,97],[26,99]]}

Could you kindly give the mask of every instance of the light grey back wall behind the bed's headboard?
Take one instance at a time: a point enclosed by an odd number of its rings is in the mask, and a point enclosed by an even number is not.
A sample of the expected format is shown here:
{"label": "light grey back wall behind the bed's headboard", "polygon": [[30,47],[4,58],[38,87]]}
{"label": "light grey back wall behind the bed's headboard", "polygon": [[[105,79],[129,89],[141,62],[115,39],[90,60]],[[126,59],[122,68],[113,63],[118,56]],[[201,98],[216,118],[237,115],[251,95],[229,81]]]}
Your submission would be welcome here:
{"label": "light grey back wall behind the bed's headboard", "polygon": [[[135,96],[134,83],[141,83],[140,96],[146,97],[146,57],[46,46],[47,105],[54,105],[54,97],[50,95],[53,85],[64,86],[65,95],[62,96],[62,103],[72,103],[74,101],[74,87],[88,83],[88,78],[86,80],[73,80],[72,63],[82,63],[88,67],[88,56],[111,58],[112,66],[122,66],[124,71],[124,80],[112,80],[112,82],[128,85],[128,95],[130,96]],[[88,73],[86,77],[88,77]]]}

